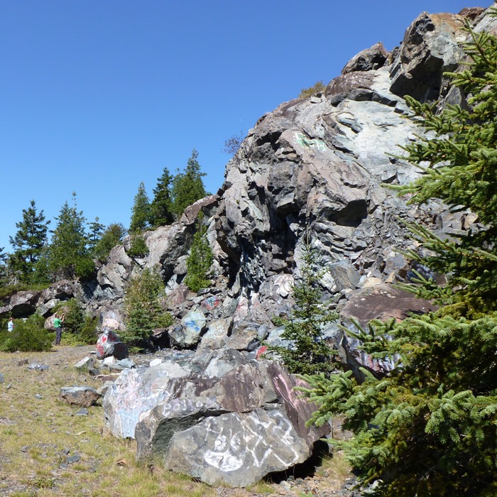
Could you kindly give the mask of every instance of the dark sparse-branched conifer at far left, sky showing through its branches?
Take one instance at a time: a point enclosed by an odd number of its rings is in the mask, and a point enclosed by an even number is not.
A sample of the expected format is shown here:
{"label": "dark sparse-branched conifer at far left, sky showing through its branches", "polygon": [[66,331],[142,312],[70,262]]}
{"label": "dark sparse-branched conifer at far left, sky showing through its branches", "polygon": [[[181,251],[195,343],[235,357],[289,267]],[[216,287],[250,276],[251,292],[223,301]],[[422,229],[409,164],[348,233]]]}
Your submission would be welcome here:
{"label": "dark sparse-branched conifer at far left, sky showing through its branches", "polygon": [[16,223],[16,235],[9,236],[13,246],[9,266],[22,283],[35,283],[40,277],[36,268],[47,244],[48,224],[50,221],[45,221],[43,210],[37,212],[35,201],[31,200],[30,207],[23,209],[22,221]]}

